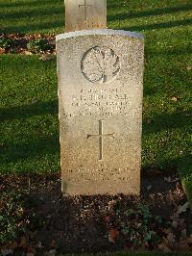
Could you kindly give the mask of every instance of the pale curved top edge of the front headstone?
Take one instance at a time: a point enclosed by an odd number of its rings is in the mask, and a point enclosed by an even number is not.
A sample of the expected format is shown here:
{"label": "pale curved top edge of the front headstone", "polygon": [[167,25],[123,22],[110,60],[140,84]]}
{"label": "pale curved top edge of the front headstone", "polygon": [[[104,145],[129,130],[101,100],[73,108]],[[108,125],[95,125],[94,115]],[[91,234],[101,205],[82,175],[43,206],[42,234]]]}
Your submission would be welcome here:
{"label": "pale curved top edge of the front headstone", "polygon": [[94,30],[82,30],[82,31],[75,31],[64,33],[56,36],[56,41],[65,38],[76,38],[76,37],[84,37],[84,36],[125,36],[130,38],[138,38],[143,39],[144,36],[140,33],[135,33],[131,31],[125,30],[112,30],[112,29],[94,29]]}

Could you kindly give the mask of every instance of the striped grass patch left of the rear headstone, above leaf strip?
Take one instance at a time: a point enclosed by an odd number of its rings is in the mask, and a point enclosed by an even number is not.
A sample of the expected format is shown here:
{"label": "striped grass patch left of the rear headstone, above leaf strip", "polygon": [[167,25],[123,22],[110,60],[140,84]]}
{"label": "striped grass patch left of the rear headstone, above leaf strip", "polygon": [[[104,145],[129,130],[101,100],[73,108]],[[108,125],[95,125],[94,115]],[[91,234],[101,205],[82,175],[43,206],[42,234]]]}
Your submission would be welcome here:
{"label": "striped grass patch left of the rear headstone, above leaf strip", "polygon": [[63,32],[64,1],[0,0],[0,24],[0,33]]}

